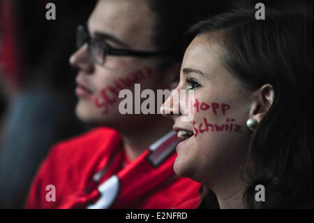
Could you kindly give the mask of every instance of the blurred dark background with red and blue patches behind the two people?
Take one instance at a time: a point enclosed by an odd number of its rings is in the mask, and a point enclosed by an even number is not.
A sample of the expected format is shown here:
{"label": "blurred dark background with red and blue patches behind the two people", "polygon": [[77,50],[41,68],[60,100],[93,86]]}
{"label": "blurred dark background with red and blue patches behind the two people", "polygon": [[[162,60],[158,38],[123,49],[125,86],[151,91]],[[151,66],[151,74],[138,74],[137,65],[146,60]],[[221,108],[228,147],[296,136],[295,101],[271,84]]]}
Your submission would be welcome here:
{"label": "blurred dark background with red and blue patches behind the two people", "polygon": [[[57,20],[45,18],[50,2]],[[230,0],[230,6],[255,8],[258,2],[313,16],[309,0]],[[87,21],[95,3],[0,0],[0,208],[22,208],[51,146],[90,128],[74,114],[77,71],[68,59],[75,51],[76,26]]]}

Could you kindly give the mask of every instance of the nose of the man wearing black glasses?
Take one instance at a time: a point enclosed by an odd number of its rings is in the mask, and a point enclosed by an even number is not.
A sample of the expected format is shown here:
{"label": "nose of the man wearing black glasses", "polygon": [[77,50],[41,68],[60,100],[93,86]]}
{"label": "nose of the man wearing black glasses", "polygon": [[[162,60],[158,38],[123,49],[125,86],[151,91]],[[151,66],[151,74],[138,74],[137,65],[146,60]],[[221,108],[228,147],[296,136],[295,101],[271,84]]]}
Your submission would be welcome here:
{"label": "nose of the man wearing black glasses", "polygon": [[84,71],[84,73],[93,73],[94,63],[89,57],[87,44],[82,45],[81,48],[76,50],[73,55],[70,56],[70,65]]}

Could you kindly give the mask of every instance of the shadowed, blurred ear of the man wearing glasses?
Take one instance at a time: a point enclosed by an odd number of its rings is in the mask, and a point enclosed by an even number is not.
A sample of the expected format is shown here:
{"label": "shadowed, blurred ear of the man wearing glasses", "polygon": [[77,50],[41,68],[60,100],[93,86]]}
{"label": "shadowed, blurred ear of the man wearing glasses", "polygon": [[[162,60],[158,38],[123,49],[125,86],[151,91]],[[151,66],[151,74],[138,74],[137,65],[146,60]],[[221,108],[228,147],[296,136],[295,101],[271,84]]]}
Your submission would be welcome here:
{"label": "shadowed, blurred ear of the man wearing glasses", "polygon": [[174,89],[179,85],[181,63],[174,63],[163,71],[163,85],[166,89]]}

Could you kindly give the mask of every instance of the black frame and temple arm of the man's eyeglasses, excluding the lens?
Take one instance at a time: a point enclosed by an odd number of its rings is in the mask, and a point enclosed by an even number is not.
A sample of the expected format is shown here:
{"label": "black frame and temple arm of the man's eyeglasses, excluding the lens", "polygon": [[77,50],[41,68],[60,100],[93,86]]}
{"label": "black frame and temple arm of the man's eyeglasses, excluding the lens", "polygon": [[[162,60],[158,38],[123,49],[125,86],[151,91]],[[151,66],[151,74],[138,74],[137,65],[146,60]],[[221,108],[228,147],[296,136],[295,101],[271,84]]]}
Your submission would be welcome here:
{"label": "black frame and temple arm of the man's eyeglasses, excluding the lens", "polygon": [[[84,36],[82,38],[82,36]],[[82,38],[82,39],[80,39]],[[108,43],[105,43],[105,41],[98,40],[97,38],[92,38],[89,34],[89,31],[87,30],[86,26],[84,25],[78,25],[77,26],[77,48],[81,48],[85,43],[88,45],[89,54],[93,58],[93,61],[96,64],[103,65],[105,64],[105,58],[107,55],[111,56],[118,56],[118,57],[171,57],[172,52],[156,52],[156,51],[145,51],[145,50],[129,50],[129,49],[115,49],[112,48],[111,45]],[[93,53],[91,52],[91,43],[93,41],[98,41],[98,43],[101,43],[103,45],[103,52],[102,57],[103,61],[98,62],[96,58],[94,58]]]}

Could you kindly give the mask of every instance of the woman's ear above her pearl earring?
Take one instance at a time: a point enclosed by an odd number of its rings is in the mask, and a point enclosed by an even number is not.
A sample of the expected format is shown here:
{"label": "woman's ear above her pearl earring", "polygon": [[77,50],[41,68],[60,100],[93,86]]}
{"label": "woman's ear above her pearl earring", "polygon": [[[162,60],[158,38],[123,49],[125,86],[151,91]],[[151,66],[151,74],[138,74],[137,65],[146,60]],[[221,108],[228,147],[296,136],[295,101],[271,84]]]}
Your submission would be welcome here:
{"label": "woman's ear above her pearl earring", "polygon": [[263,85],[255,92],[254,98],[250,110],[250,118],[253,118],[259,123],[275,100],[274,87],[269,84]]}

